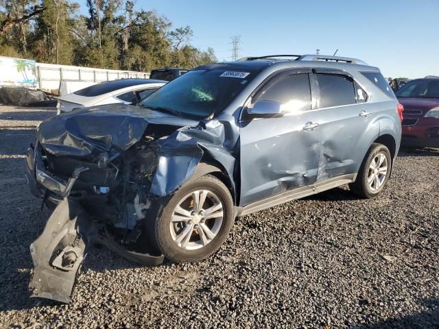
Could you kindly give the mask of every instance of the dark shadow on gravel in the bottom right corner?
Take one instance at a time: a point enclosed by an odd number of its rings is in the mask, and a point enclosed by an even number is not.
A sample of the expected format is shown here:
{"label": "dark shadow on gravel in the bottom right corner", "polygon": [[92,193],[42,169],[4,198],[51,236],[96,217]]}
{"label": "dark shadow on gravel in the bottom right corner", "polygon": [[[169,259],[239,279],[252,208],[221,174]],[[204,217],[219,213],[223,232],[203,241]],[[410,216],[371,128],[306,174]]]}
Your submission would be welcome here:
{"label": "dark shadow on gravel in the bottom right corner", "polygon": [[429,310],[405,317],[394,317],[377,324],[350,327],[351,329],[439,328],[439,300],[423,300],[420,304]]}

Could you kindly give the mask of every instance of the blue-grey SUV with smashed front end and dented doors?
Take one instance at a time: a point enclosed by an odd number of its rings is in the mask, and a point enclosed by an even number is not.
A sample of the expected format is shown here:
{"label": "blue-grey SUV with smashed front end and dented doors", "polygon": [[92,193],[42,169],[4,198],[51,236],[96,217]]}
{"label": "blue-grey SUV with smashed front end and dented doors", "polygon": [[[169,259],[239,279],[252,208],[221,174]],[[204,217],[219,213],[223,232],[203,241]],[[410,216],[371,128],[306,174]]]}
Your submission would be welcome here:
{"label": "blue-grey SUV with smashed front end and dented doors", "polygon": [[27,153],[54,212],[31,245],[32,293],[69,302],[90,243],[139,263],[200,260],[237,216],[342,184],[384,188],[402,108],[379,72],[332,56],[200,66],[138,106],[43,121]]}

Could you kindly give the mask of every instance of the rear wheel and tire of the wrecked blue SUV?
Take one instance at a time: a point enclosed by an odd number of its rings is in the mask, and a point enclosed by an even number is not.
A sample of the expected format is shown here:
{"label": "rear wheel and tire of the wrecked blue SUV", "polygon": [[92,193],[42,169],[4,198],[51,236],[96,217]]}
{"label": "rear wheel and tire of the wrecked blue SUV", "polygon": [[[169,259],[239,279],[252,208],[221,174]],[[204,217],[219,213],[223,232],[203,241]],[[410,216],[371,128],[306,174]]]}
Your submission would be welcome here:
{"label": "rear wheel and tire of the wrecked blue SUV", "polygon": [[[377,163],[381,158],[383,162],[380,167],[377,166]],[[372,167],[375,169],[372,169]],[[383,175],[384,167],[386,168],[385,175]],[[392,157],[390,156],[389,149],[385,147],[385,145],[373,143],[368,149],[366,156],[364,156],[364,160],[357,174],[357,179],[352,184],[349,184],[349,188],[359,197],[365,199],[376,197],[383,191],[391,172]],[[372,180],[370,180],[371,178]]]}

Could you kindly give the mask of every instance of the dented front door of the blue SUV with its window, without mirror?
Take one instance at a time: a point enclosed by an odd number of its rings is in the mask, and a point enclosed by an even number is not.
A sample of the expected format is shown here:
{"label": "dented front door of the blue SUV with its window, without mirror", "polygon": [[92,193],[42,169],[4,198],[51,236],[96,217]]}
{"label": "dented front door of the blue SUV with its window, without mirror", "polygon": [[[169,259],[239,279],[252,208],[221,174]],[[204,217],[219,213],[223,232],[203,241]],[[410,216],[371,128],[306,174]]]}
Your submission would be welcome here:
{"label": "dented front door of the blue SUV with its window, without mirror", "polygon": [[244,109],[241,206],[316,181],[320,133],[311,127],[317,113],[311,111],[309,74],[302,72],[279,73],[252,97],[249,107],[261,100],[281,103],[282,117],[249,117]]}

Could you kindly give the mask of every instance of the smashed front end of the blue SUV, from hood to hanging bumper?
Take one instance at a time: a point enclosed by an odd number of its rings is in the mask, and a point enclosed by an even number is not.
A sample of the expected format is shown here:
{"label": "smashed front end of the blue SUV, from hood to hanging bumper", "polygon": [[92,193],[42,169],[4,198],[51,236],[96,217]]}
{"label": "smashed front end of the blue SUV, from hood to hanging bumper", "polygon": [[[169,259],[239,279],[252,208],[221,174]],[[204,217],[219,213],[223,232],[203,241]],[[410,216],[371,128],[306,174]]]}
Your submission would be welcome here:
{"label": "smashed front end of the blue SUV, from hood to hanging bumper", "polygon": [[[99,121],[98,121],[99,120]],[[224,125],[136,108],[85,109],[41,123],[27,151],[31,191],[54,208],[30,246],[32,297],[70,301],[88,246],[144,265],[163,262],[150,243],[154,204],[193,175],[202,156],[226,163]]]}

